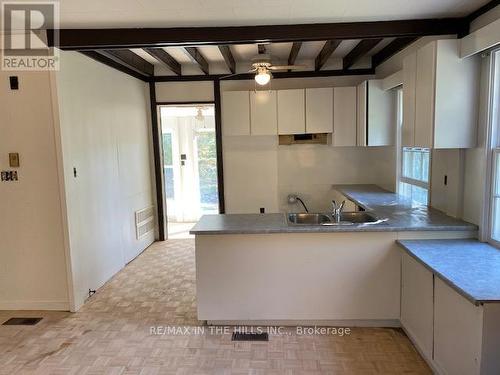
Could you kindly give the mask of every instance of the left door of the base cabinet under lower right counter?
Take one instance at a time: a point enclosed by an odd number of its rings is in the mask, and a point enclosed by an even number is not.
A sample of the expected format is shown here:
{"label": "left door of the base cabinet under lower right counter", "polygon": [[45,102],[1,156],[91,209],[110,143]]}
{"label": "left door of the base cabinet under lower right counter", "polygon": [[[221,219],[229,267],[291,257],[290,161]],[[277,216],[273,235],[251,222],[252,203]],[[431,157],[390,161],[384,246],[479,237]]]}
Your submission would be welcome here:
{"label": "left door of the base cabinet under lower right counter", "polygon": [[402,256],[401,324],[425,357],[432,359],[433,275],[406,253]]}

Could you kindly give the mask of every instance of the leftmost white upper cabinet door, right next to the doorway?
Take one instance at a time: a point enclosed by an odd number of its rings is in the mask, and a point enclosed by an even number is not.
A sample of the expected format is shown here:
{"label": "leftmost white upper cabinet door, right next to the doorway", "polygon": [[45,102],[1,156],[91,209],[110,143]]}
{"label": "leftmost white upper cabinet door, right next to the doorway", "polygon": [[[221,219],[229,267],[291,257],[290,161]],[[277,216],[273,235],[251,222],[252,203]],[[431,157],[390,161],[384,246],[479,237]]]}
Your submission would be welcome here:
{"label": "leftmost white upper cabinet door, right next to the doorway", "polygon": [[222,93],[224,135],[250,135],[250,98],[248,91]]}

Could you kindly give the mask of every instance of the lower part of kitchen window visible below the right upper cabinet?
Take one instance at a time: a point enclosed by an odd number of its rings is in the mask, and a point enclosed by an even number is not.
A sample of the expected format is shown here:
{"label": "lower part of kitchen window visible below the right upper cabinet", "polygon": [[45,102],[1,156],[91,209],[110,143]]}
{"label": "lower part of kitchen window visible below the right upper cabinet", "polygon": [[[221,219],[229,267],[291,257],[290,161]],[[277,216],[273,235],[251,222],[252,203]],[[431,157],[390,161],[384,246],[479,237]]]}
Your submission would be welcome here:
{"label": "lower part of kitchen window visible below the right upper cabinet", "polygon": [[399,194],[416,203],[429,202],[430,150],[427,148],[403,147]]}

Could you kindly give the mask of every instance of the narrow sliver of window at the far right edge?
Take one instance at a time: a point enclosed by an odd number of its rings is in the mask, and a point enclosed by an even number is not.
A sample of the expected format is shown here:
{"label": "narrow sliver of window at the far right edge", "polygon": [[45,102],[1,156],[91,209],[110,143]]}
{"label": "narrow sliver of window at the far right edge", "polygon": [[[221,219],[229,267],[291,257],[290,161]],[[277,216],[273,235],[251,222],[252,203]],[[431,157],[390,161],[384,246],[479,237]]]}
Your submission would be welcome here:
{"label": "narrow sliver of window at the far right edge", "polygon": [[490,233],[489,240],[500,244],[500,50],[491,54],[492,86],[490,98]]}

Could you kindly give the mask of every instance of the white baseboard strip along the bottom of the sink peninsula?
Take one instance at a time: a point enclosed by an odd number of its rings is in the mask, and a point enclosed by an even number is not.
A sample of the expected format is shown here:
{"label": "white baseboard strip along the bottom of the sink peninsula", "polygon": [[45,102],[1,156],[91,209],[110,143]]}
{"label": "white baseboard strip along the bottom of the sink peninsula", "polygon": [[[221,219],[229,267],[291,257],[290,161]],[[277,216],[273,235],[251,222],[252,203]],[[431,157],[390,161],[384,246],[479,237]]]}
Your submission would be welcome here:
{"label": "white baseboard strip along the bottom of the sink peninsula", "polygon": [[351,320],[207,320],[216,326],[401,327],[399,319]]}

